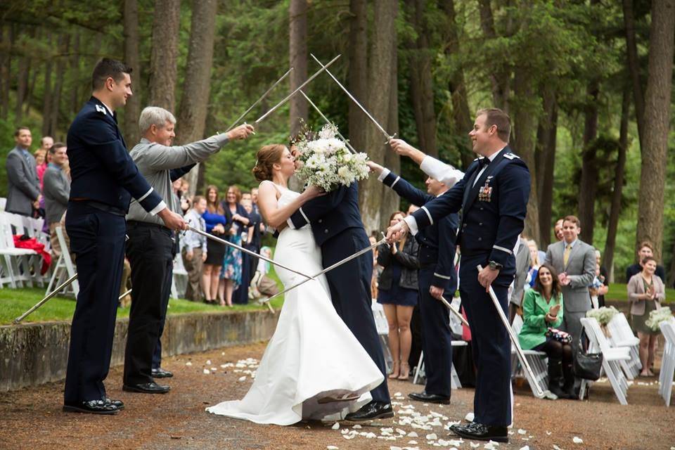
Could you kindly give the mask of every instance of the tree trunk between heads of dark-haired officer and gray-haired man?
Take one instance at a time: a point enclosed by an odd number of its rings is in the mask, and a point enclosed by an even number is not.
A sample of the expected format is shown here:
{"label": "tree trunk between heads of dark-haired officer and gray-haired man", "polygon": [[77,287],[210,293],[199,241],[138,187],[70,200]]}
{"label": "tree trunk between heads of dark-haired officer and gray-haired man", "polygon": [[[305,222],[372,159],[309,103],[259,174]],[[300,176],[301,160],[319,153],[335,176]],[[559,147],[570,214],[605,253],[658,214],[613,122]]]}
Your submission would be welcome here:
{"label": "tree trunk between heads of dark-haired officer and gray-haired man", "polygon": [[124,106],[124,139],[129,148],[141,140],[139,117],[141,115],[141,56],[139,54],[139,5],[136,0],[124,0],[124,63],[134,70],[134,95]]}

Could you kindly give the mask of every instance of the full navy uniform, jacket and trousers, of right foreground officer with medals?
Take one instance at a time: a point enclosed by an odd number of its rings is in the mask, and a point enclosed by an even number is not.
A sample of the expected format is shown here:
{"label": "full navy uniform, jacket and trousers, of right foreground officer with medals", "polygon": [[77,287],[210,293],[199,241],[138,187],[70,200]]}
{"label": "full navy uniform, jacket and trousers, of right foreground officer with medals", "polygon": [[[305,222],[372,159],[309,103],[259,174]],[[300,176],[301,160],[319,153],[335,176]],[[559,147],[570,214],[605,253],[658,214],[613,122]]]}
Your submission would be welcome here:
{"label": "full navy uniform, jacket and trousers, of right foreground officer with medals", "polygon": [[[491,426],[511,423],[510,352],[508,332],[494,304],[478,283],[478,264],[501,264],[492,283],[508,314],[508,285],[515,274],[515,247],[525,223],[530,175],[525,162],[506,146],[480,176],[487,158],[475,160],[464,178],[439,198],[413,213],[421,228],[462,210],[457,243],[461,249],[459,291],[471,329],[477,368],[475,422]],[[474,184],[475,182],[475,184]]]}

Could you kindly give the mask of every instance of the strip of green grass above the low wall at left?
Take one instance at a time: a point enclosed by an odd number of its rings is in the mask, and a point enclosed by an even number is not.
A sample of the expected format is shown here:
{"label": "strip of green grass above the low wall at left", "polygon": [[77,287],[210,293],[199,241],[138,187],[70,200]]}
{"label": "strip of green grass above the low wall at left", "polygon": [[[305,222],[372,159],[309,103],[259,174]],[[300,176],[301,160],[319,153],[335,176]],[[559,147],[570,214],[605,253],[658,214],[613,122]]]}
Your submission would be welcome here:
{"label": "strip of green grass above the low wall at left", "polygon": [[[276,281],[280,289],[283,289],[274,270],[269,274]],[[34,304],[44,298],[44,288],[23,288],[23,289],[0,289],[0,325],[9,325],[12,321],[30,309]],[[276,297],[271,301],[274,309],[281,308],[283,304],[283,295]],[[264,309],[267,307],[257,302],[250,304],[236,304],[233,308],[223,308],[220,306],[196,303],[189,300],[169,300],[168,314],[186,314],[192,312],[217,312],[227,314],[233,311],[252,311]],[[45,322],[45,321],[70,321],[75,311],[75,299],[71,297],[53,297],[39,309],[27,316],[21,323]],[[118,308],[117,317],[129,317],[129,307]]]}

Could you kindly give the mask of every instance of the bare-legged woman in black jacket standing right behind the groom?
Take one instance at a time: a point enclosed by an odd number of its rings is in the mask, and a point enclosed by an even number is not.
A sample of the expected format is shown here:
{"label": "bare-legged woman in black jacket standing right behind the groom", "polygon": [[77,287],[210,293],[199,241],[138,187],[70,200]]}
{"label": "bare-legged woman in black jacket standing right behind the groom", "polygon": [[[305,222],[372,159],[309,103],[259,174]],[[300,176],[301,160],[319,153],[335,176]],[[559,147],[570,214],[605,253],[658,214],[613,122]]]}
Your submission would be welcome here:
{"label": "bare-legged woman in black jacket standing right behind the groom", "polygon": [[[389,218],[390,226],[404,217],[403,212],[394,212]],[[389,323],[389,348],[394,357],[391,379],[407,380],[410,375],[410,321],[419,295],[419,248],[414,238],[402,239],[398,245],[392,243],[391,248],[386,244],[378,248],[378,264],[383,266],[378,283],[378,303],[383,305]]]}

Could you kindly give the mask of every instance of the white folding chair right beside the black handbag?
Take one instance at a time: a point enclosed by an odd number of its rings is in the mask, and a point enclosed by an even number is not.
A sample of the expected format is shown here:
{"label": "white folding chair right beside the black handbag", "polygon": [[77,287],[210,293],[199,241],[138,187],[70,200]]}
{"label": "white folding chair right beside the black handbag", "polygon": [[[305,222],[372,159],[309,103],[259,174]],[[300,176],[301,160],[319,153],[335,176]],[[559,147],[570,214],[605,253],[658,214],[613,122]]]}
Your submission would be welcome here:
{"label": "white folding chair right beside the black handbag", "polygon": [[[628,347],[610,347],[610,342],[605,338],[603,330],[600,329],[600,323],[593,317],[581,318],[581,326],[584,327],[586,335],[589,337],[591,346],[589,351],[592,353],[600,351],[603,354],[603,371],[607,375],[612,389],[619,399],[619,403],[627,405],[626,397],[628,395],[628,382],[624,375],[619,361],[629,361],[631,359]],[[579,397],[583,396],[588,387],[588,380],[581,382],[581,392]]]}

